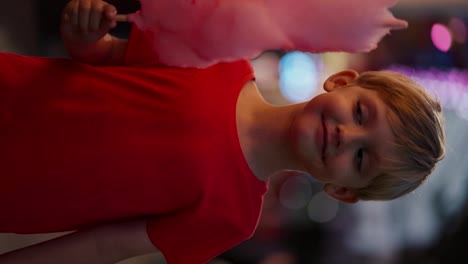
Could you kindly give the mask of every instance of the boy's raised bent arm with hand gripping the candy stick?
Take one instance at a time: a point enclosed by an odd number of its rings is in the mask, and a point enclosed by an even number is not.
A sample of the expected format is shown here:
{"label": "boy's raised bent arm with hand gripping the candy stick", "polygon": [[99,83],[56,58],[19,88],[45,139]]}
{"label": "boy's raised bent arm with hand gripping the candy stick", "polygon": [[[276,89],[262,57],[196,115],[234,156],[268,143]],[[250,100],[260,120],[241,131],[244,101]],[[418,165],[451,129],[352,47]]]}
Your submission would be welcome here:
{"label": "boy's raised bent arm with hand gripping the candy stick", "polygon": [[65,6],[61,33],[73,59],[94,65],[122,65],[127,40],[108,32],[117,24],[117,9],[102,0],[71,0]]}

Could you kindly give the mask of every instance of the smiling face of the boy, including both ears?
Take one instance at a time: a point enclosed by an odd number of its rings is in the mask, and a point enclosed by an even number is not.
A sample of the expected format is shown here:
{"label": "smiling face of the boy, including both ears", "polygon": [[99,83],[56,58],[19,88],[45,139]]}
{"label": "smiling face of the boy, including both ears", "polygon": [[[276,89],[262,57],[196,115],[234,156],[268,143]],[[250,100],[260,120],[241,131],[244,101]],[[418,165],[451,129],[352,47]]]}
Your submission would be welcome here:
{"label": "smiling face of the boy, including both ears", "polygon": [[331,76],[324,84],[327,93],[307,103],[293,126],[304,168],[325,184],[328,195],[344,202],[356,202],[353,189],[381,174],[381,157],[392,153],[394,142],[389,110],[378,93],[346,86],[356,77],[353,71]]}

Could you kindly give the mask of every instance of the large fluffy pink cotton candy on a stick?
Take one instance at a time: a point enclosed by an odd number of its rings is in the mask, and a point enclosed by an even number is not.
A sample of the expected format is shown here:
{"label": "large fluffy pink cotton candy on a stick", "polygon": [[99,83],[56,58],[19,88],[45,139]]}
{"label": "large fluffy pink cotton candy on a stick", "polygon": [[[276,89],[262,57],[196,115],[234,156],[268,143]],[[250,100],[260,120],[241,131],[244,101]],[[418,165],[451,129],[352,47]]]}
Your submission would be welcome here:
{"label": "large fluffy pink cotton candy on a stick", "polygon": [[270,49],[367,52],[391,29],[396,0],[140,0],[129,20],[161,62],[207,67]]}

